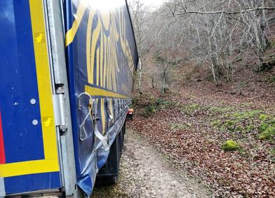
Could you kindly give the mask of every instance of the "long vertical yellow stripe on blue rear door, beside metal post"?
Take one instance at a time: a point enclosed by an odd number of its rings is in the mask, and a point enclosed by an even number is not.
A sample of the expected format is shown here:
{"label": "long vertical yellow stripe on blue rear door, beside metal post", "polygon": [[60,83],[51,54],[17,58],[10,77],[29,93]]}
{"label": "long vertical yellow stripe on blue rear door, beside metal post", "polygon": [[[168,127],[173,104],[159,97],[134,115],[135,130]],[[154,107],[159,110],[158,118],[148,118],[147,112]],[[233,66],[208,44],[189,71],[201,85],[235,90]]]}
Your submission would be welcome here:
{"label": "long vertical yellow stripe on blue rear door, beside metal post", "polygon": [[39,89],[39,105],[41,112],[45,159],[58,159],[58,147],[56,143],[57,138],[55,134],[53,117],[53,93],[51,90],[51,73],[48,64],[47,44],[46,39],[44,42],[37,43],[35,37],[36,32],[40,32],[40,34],[43,34],[46,38],[42,2],[43,1],[37,0],[29,1],[34,38],[37,84]]}

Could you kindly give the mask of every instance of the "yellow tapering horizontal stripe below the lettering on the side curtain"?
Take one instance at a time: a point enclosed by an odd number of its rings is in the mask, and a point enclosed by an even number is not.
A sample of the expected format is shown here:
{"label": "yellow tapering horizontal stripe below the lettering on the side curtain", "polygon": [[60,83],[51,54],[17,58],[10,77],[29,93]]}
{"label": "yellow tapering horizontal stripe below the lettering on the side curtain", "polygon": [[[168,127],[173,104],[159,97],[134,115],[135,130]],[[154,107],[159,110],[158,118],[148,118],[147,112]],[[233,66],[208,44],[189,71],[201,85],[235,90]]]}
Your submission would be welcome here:
{"label": "yellow tapering horizontal stripe below the lettering on the side curtain", "polygon": [[128,95],[121,95],[119,93],[114,93],[112,91],[107,91],[102,88],[96,88],[92,86],[85,86],[85,92],[94,96],[104,96],[104,97],[112,97],[112,98],[130,98]]}

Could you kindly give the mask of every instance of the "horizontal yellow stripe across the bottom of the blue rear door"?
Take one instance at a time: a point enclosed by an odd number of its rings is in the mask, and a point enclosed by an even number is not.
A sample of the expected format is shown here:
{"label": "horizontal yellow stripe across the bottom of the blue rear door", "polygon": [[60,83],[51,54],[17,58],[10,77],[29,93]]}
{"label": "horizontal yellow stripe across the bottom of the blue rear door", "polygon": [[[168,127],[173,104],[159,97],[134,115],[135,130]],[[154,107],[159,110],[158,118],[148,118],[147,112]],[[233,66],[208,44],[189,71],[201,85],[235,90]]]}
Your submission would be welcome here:
{"label": "horizontal yellow stripe across the bottom of the blue rear door", "polygon": [[[37,1],[37,0],[36,0]],[[56,159],[42,159],[34,161],[22,161],[11,164],[1,164],[0,177],[22,176],[35,173],[50,173],[58,171]]]}

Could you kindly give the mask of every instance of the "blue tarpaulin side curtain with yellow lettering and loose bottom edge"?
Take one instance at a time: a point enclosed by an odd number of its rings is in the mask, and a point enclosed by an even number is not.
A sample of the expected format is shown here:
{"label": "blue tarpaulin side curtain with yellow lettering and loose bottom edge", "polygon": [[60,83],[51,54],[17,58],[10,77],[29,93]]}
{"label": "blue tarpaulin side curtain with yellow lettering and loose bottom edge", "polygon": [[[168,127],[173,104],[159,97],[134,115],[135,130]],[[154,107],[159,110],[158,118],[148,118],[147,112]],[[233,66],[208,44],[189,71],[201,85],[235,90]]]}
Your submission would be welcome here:
{"label": "blue tarpaulin side curtain with yellow lettering and loose bottom edge", "polygon": [[76,172],[78,185],[90,194],[109,154],[104,142],[114,142],[128,112],[137,51],[126,1],[65,5]]}

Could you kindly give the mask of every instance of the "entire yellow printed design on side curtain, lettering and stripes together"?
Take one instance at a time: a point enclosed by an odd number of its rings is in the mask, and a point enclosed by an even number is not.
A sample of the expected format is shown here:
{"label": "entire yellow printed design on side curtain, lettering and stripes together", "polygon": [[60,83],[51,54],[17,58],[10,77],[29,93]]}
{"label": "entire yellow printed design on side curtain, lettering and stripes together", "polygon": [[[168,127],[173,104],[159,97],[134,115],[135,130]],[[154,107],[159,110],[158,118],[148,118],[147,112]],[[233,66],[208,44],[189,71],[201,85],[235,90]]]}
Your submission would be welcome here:
{"label": "entire yellow printed design on side curtain, lettering and stripes together", "polygon": [[[107,4],[113,5],[106,8],[108,5],[104,4],[104,1],[81,0],[72,28],[66,34],[66,46],[72,44],[84,14],[88,14],[88,16],[85,15],[85,18],[88,18],[87,22],[83,21],[83,24],[87,25],[87,84],[85,85],[85,92],[93,96],[126,99],[130,98],[130,95],[127,94],[132,92],[131,85],[118,84],[118,79],[122,76],[120,72],[123,72],[123,79],[128,83],[132,82],[135,63],[126,37],[128,33],[126,31],[129,29],[126,28],[126,16],[123,10],[125,9],[125,1],[120,1],[123,6],[119,6],[118,1],[114,2],[108,1]],[[121,94],[121,91],[124,94]],[[100,99],[102,134],[105,134],[107,130],[105,126],[106,101],[104,98]],[[113,114],[112,108],[112,104],[110,104],[110,110]]]}

